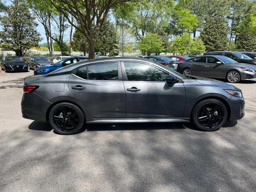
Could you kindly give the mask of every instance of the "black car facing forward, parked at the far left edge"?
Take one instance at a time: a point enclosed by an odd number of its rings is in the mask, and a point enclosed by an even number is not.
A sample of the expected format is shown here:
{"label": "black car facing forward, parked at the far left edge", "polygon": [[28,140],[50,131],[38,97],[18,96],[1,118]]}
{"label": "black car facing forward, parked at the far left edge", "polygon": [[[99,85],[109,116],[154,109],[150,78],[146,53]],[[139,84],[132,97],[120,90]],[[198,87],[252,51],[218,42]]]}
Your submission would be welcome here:
{"label": "black car facing forward, parked at the far left edge", "polygon": [[4,70],[4,72],[28,71],[28,65],[25,61],[18,56],[4,56],[1,61],[1,70]]}

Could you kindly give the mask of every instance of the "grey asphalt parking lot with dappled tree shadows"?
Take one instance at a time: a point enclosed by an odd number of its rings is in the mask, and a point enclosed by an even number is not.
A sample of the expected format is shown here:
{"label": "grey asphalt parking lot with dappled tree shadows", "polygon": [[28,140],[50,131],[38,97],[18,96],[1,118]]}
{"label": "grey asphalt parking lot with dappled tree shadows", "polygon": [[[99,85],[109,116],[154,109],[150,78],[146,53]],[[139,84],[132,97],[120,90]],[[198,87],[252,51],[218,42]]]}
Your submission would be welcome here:
{"label": "grey asphalt parking lot with dappled tree shadows", "polygon": [[216,132],[190,124],[96,124],[62,136],[22,118],[23,78],[0,71],[0,191],[256,191],[256,83],[236,84],[242,120]]}

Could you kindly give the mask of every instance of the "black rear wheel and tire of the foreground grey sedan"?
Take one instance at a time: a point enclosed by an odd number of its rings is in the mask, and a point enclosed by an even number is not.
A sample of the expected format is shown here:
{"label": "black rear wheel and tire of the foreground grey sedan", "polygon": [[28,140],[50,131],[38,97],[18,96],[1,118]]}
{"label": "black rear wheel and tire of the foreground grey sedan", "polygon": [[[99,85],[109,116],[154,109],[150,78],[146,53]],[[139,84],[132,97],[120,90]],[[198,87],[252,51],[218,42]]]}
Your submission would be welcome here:
{"label": "black rear wheel and tire of the foreground grey sedan", "polygon": [[52,108],[49,121],[52,128],[59,134],[71,135],[79,132],[83,127],[85,116],[78,106],[64,102]]}

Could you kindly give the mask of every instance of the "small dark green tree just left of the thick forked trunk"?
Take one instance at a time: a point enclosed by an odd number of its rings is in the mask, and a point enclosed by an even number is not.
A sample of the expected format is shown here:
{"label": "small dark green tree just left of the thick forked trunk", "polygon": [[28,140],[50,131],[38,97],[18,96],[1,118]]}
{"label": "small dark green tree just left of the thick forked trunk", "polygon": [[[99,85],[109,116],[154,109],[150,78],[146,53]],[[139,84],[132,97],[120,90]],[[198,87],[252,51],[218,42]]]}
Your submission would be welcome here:
{"label": "small dark green tree just left of the thick forked trunk", "polygon": [[89,51],[88,41],[86,37],[80,32],[80,30],[75,30],[73,34],[73,40],[70,42],[74,51],[83,52],[84,56]]}

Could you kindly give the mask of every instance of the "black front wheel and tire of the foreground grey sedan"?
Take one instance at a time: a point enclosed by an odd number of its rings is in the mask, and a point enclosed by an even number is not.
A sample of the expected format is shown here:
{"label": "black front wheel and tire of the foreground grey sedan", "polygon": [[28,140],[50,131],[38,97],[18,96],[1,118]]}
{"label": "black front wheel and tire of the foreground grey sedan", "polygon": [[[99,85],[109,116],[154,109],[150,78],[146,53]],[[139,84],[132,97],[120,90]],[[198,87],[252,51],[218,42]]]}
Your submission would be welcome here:
{"label": "black front wheel and tire of the foreground grey sedan", "polygon": [[227,116],[227,108],[220,100],[206,99],[194,106],[191,119],[199,130],[216,131],[226,122]]}

